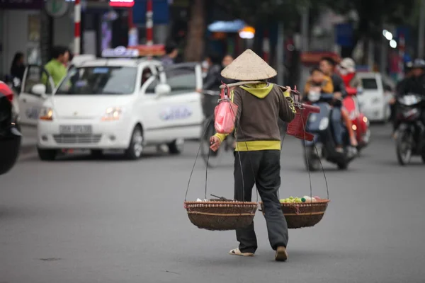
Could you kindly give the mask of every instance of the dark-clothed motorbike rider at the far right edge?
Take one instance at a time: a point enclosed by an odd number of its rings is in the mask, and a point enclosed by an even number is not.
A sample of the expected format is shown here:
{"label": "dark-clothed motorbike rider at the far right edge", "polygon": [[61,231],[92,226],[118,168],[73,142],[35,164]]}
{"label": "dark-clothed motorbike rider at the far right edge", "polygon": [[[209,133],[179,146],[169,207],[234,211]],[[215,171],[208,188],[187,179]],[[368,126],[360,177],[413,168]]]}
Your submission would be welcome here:
{"label": "dark-clothed motorbike rider at the far right edge", "polygon": [[[412,74],[402,80],[397,86],[397,97],[404,96],[407,93],[416,93],[425,99],[425,60],[414,59],[412,62]],[[425,125],[425,109],[422,111],[421,122]],[[397,117],[394,122],[396,130],[400,122]],[[394,137],[396,135],[394,134]]]}

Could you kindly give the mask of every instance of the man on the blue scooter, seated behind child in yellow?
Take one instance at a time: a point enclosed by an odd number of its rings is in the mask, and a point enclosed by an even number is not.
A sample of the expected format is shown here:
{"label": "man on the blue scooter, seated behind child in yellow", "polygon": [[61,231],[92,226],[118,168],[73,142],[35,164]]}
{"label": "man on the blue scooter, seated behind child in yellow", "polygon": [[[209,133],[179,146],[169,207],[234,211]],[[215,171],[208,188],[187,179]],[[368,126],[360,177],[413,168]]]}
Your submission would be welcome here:
{"label": "man on the blue scooter, seated behind child in yellow", "polygon": [[336,62],[331,57],[323,57],[319,63],[320,69],[326,76],[329,76],[334,85],[334,101],[332,105],[334,106],[334,110],[332,111],[331,124],[334,129],[334,139],[336,143],[336,151],[343,152],[343,125],[341,120],[344,120],[346,129],[350,136],[351,146],[357,146],[356,136],[351,127],[351,120],[349,119],[348,112],[342,108],[341,100],[346,97],[346,87],[344,84],[344,80],[336,74]]}

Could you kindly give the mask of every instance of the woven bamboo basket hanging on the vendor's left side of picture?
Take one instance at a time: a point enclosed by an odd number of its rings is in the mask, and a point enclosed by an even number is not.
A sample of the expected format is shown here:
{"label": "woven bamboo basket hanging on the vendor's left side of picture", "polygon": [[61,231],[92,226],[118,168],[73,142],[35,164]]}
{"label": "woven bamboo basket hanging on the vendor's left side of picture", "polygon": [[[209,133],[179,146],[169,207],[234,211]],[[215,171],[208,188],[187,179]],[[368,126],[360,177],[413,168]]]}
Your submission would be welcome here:
{"label": "woven bamboo basket hanging on the vendor's left side of picture", "polygon": [[210,231],[227,231],[249,226],[254,220],[257,202],[210,200],[184,202],[192,224]]}

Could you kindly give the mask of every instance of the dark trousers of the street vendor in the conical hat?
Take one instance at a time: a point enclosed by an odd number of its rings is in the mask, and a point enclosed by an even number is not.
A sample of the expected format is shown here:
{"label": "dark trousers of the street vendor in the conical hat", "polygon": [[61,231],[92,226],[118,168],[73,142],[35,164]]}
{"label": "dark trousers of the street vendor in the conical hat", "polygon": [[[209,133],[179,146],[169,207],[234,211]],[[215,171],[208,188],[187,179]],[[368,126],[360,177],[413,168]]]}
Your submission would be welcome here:
{"label": "dark trousers of the street vendor in the conical hat", "polygon": [[[286,224],[278,199],[280,151],[242,151],[235,153],[234,199],[251,202],[254,185],[256,185],[264,204],[268,240],[271,248],[276,250],[279,246],[286,247],[288,224]],[[236,238],[239,241],[239,250],[242,253],[255,253],[257,241],[254,222],[244,229],[237,229]]]}

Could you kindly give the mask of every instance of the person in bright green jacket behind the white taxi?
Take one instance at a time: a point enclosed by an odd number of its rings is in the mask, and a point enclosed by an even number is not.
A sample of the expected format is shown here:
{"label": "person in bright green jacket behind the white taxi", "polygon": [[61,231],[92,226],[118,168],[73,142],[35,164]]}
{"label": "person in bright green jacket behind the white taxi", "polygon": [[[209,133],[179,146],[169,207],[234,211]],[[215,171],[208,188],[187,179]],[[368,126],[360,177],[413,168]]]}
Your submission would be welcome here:
{"label": "person in bright green jacket behind the white taxi", "polygon": [[[57,46],[53,47],[52,59],[45,64],[45,70],[50,74],[57,86],[60,81],[67,75],[66,64],[69,61],[69,51],[66,47]],[[42,75],[42,83],[47,83],[46,74]]]}

